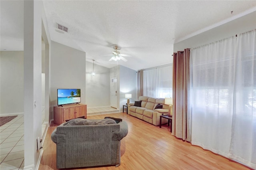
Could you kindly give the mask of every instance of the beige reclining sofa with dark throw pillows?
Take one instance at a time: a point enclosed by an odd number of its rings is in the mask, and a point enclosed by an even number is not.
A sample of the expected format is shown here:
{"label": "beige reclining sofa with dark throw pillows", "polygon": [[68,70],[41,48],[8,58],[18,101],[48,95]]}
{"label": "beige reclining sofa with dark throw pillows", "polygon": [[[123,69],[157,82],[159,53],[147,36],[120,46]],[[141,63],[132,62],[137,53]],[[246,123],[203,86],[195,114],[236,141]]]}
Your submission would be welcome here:
{"label": "beige reclining sofa with dark throw pillows", "polygon": [[[155,126],[160,124],[160,115],[168,115],[169,105],[164,104],[164,98],[140,96],[139,101],[141,101],[141,107],[134,106],[134,103],[128,104],[128,115],[137,117]],[[162,105],[163,108],[155,109],[157,104]],[[167,119],[162,119],[162,124],[167,122]]]}

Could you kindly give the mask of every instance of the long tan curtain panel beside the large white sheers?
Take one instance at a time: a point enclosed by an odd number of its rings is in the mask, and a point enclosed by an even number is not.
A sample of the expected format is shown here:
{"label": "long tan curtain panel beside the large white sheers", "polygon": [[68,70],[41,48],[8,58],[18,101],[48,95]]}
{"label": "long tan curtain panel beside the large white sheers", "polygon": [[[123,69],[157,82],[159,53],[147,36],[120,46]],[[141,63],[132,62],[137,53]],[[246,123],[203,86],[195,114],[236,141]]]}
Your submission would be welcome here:
{"label": "long tan curtain panel beside the large white sheers", "polygon": [[189,49],[173,55],[172,134],[191,142],[189,114]]}

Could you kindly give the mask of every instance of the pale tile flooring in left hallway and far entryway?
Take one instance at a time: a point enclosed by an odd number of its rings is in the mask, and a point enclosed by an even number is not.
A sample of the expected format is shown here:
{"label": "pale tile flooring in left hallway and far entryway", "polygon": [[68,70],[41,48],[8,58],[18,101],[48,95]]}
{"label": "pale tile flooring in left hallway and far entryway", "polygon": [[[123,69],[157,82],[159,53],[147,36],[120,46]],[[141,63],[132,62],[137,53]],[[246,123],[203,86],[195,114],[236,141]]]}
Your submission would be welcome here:
{"label": "pale tile flooring in left hallway and far entryway", "polygon": [[[87,108],[87,115],[119,112],[112,107]],[[42,136],[46,131],[44,109],[42,109]],[[0,170],[23,170],[24,168],[24,115],[0,127]]]}

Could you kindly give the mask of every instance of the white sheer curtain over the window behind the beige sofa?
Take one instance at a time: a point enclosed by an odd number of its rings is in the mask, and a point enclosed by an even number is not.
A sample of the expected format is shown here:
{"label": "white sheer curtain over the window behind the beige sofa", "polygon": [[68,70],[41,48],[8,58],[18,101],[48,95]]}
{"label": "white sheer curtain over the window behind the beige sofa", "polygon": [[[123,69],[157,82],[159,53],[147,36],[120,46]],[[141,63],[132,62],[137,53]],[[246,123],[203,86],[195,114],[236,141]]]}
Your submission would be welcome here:
{"label": "white sheer curtain over the window behind the beige sofa", "polygon": [[172,65],[143,71],[143,95],[172,97]]}

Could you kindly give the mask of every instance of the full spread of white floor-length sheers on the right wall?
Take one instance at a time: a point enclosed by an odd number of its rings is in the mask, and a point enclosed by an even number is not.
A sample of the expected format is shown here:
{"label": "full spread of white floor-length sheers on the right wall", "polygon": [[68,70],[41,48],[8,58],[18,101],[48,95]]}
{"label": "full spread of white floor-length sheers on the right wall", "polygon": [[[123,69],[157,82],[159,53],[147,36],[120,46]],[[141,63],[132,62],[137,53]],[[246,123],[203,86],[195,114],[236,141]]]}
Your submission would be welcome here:
{"label": "full spread of white floor-length sheers on the right wall", "polygon": [[255,30],[190,49],[192,144],[256,168]]}

